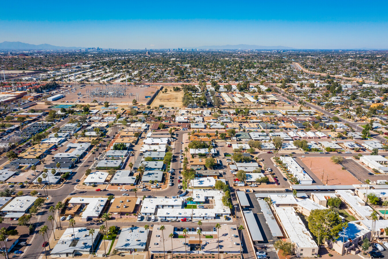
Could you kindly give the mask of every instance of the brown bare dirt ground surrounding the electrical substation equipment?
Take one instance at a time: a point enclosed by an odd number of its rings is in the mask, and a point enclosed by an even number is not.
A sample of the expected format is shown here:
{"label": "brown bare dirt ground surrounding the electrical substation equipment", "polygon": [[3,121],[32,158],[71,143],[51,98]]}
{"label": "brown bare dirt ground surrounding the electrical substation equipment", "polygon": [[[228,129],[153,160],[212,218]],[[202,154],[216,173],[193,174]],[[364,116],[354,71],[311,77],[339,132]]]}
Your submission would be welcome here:
{"label": "brown bare dirt ground surrounding the electrical substation equipment", "polygon": [[[109,87],[114,87],[114,85],[108,85]],[[124,86],[121,86],[124,87]],[[102,84],[93,84],[93,85],[87,85],[85,87],[72,87],[71,89],[73,91],[66,91],[69,90],[66,88],[63,88],[64,94],[66,95],[65,98],[62,98],[62,100],[54,101],[52,103],[60,103],[61,101],[73,101],[76,100],[85,101],[85,103],[91,103],[93,100],[97,100],[99,102],[109,101],[109,103],[115,103],[117,105],[132,105],[132,100],[136,99],[136,94],[138,94],[137,97],[137,103],[145,105],[145,103],[149,100],[149,98],[158,90],[159,87],[144,87],[144,86],[132,86],[128,85],[126,86],[125,95],[123,97],[98,97],[95,96],[93,98],[88,98],[87,92],[94,91],[97,88],[100,88],[100,90],[105,89],[106,86]],[[81,92],[81,95],[78,95],[78,93]],[[60,94],[60,93],[58,93]],[[146,98],[148,97],[148,98]]]}

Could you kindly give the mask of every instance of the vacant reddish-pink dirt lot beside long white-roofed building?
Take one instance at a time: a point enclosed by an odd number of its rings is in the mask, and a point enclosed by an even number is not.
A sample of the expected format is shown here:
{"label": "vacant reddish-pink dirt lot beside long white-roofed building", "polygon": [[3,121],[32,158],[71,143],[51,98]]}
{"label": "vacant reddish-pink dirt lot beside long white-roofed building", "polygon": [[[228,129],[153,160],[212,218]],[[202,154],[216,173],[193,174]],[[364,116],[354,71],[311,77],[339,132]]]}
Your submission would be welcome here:
{"label": "vacant reddish-pink dirt lot beside long white-roofed building", "polygon": [[[346,159],[345,159],[346,160]],[[301,161],[306,165],[306,167],[310,168],[311,163],[311,171],[322,180],[323,175],[323,183],[327,185],[352,185],[352,184],[360,184],[360,181],[357,180],[351,173],[346,170],[342,170],[342,166],[338,164],[334,164],[331,161],[331,158],[327,157],[308,157],[301,158]]]}

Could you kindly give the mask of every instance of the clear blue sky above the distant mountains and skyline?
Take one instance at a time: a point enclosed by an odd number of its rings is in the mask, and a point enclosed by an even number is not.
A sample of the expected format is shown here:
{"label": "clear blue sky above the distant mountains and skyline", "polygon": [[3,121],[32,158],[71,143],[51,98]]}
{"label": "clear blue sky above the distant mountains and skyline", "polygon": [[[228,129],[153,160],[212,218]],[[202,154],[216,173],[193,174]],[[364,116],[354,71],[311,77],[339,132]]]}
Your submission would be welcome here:
{"label": "clear blue sky above the distant mountains and skyline", "polygon": [[5,1],[0,42],[388,49],[388,1]]}

